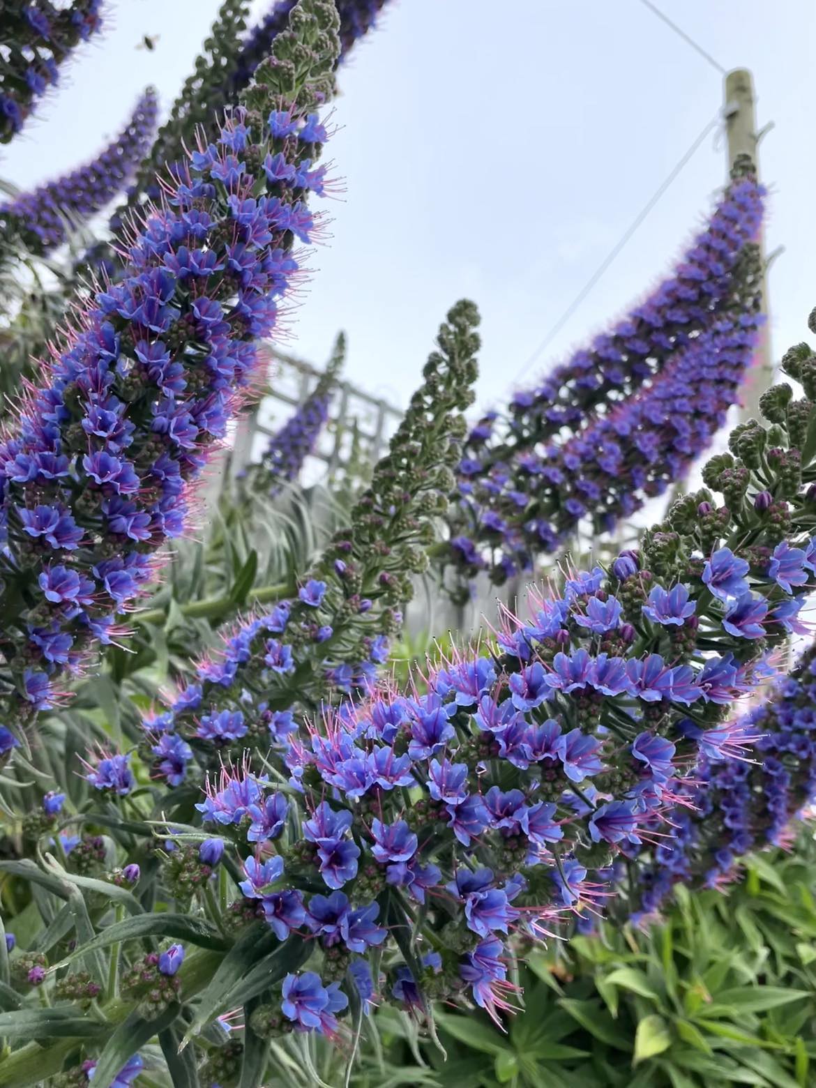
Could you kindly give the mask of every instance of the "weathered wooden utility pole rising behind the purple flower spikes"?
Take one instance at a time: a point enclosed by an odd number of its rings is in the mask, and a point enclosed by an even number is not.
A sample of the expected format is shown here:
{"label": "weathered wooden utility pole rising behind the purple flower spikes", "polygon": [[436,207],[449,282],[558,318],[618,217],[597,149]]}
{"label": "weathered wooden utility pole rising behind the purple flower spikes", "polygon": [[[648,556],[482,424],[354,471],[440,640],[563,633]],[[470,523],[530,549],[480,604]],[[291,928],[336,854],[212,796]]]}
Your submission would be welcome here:
{"label": "weathered wooden utility pole rising behind the purple flower spikes", "polygon": [[[759,135],[756,128],[754,110],[754,81],[747,69],[734,69],[726,75],[725,87],[726,134],[728,136],[728,169],[730,170],[738,154],[747,154],[752,159],[757,177],[759,175],[758,144]],[[759,418],[759,397],[774,382],[774,361],[770,353],[770,309],[768,306],[768,279],[765,259],[765,232],[759,234],[759,260],[762,261],[762,310],[766,323],[761,333],[756,349],[756,361],[747,376],[743,390],[743,407],[740,419]]]}

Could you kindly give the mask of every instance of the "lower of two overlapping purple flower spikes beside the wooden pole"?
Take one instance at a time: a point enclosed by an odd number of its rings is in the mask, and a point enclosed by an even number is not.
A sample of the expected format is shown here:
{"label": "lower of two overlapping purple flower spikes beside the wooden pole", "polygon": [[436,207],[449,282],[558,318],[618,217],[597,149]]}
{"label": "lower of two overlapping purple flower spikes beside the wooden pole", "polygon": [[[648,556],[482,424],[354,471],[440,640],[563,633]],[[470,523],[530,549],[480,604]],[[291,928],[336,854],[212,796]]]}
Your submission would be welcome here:
{"label": "lower of two overlapping purple flower spikes beside the wooden pole", "polygon": [[481,551],[459,537],[453,547],[470,567],[490,562],[492,577],[503,581],[564,546],[583,519],[596,533],[611,532],[664,494],[708,448],[737,403],[764,322],[761,301],[759,251],[749,244],[733,273],[730,309],[650,385],[590,417],[562,444],[515,455],[469,480]]}

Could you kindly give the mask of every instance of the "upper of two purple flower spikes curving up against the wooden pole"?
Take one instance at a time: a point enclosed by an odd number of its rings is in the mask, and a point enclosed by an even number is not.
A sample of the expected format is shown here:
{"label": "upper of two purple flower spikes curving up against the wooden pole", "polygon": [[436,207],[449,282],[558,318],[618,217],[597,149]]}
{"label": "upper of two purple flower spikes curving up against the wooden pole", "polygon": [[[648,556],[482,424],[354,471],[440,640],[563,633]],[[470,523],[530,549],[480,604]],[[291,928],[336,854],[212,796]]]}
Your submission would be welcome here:
{"label": "upper of two purple flower spikes curving up against the wooden pole", "polygon": [[[554,531],[545,519],[524,518],[527,489],[517,485],[515,475],[528,471],[532,477],[546,461],[547,448],[562,447],[573,436],[579,441],[588,425],[677,361],[697,335],[732,317],[740,293],[750,309],[745,249],[762,222],[763,195],[753,164],[741,157],[706,230],[673,275],[591,348],[577,351],[535,387],[517,393],[505,417],[487,412],[472,429],[459,468],[459,504],[452,508],[453,544],[446,557],[465,576],[486,567],[500,582],[519,566],[529,567],[536,553],[551,549]],[[496,505],[506,508],[512,526]],[[514,528],[524,521],[533,523],[528,541]],[[541,536],[535,522],[541,522]],[[508,552],[519,552],[515,558],[496,548],[503,536]]]}

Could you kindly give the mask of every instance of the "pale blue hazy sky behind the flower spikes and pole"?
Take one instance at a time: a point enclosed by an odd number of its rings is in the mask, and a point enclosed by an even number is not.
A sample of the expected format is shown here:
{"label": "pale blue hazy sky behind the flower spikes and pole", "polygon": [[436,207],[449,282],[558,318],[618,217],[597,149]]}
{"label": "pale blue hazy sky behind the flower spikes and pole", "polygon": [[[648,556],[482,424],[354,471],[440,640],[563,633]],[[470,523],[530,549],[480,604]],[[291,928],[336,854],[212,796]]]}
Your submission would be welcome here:
{"label": "pale blue hazy sky behind the flower spikes and pole", "polygon": [[[750,67],[775,356],[816,302],[816,5],[656,0],[727,69]],[[256,3],[263,12],[269,3]],[[165,107],[218,0],[119,0],[0,174],[32,185],[91,156],[147,83]],[[160,34],[154,52],[143,34]],[[329,244],[282,346],[322,364],[337,329],[348,375],[406,404],[436,326],[461,296],[483,314],[480,403],[512,379],[721,104],[721,77],[640,0],[388,0],[341,75],[327,152],[345,178]],[[553,363],[647,290],[725,178],[709,137],[533,368]]]}

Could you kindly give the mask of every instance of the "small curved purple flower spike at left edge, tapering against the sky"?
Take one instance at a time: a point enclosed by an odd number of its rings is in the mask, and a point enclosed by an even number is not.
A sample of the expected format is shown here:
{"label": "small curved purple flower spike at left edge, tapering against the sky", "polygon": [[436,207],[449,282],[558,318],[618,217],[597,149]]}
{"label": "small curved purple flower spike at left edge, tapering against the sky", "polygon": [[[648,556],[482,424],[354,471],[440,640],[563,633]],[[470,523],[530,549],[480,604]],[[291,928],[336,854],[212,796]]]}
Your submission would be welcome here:
{"label": "small curved purple flower spike at left edge, tapering against the sky", "polygon": [[156,91],[148,88],[126,126],[96,159],[0,205],[2,230],[18,235],[39,255],[62,245],[73,226],[90,219],[124,187],[150,145],[157,109]]}

